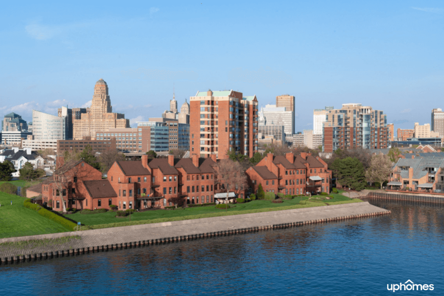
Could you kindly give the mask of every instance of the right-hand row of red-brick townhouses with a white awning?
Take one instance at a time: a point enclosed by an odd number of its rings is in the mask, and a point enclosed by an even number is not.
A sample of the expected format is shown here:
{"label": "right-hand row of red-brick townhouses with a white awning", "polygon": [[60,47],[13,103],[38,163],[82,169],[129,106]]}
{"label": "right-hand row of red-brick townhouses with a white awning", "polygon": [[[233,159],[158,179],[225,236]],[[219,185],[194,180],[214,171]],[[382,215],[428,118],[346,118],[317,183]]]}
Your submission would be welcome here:
{"label": "right-hand row of red-brick townhouses with a white awning", "polygon": [[253,192],[259,184],[264,191],[284,194],[304,194],[305,192],[330,192],[332,172],[327,163],[310,153],[292,152],[285,156],[268,153],[256,166],[246,171],[248,183]]}

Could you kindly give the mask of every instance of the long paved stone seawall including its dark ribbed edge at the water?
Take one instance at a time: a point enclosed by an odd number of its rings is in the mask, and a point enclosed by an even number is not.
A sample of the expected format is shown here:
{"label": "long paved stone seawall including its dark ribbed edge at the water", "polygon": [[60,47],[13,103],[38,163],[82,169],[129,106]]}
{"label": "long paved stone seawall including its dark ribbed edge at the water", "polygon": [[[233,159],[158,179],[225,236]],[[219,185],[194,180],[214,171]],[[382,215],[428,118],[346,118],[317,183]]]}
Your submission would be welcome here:
{"label": "long paved stone seawall including its dark ribbed edge at the water", "polygon": [[50,250],[45,249],[45,247],[35,250],[0,249],[0,264],[77,256],[155,244],[283,229],[314,223],[366,218],[390,213],[390,211],[370,205],[368,202],[359,202],[256,214],[5,238],[1,239],[0,243],[51,239],[73,235],[80,236],[80,239],[74,241],[70,246],[68,244],[61,244],[52,246]]}

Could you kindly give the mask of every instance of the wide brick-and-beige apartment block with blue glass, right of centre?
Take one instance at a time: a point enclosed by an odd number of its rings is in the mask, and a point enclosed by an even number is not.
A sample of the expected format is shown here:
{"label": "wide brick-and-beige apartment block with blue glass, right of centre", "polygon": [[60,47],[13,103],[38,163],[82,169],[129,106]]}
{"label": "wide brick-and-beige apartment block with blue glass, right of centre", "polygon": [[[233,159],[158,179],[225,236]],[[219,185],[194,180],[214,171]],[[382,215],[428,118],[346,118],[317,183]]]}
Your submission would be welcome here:
{"label": "wide brick-and-beige apartment block with blue glass, right of centre", "polygon": [[329,110],[324,122],[324,151],[338,148],[387,148],[387,115],[362,104]]}

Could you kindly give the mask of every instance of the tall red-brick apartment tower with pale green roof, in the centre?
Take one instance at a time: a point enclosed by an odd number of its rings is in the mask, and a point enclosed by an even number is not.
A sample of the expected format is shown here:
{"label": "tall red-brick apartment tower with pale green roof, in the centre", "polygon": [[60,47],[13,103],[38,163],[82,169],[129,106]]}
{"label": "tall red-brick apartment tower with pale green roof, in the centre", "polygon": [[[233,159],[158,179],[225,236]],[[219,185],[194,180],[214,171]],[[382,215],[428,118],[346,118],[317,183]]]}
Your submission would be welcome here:
{"label": "tall red-brick apartment tower with pale green roof, in the centre", "polygon": [[258,99],[241,92],[198,91],[189,99],[190,154],[219,159],[258,151]]}

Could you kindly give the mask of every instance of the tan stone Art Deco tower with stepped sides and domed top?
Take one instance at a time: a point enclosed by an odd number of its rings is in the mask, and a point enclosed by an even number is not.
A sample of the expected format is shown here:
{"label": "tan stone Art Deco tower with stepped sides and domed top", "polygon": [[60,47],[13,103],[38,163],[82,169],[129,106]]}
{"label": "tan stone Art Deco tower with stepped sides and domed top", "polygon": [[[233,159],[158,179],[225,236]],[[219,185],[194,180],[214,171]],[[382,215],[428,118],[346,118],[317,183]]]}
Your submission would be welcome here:
{"label": "tan stone Art Deco tower with stepped sides and domed top", "polygon": [[74,140],[83,137],[95,139],[96,132],[108,131],[110,128],[127,128],[129,119],[121,113],[112,113],[108,85],[100,79],[94,86],[94,95],[89,113],[81,113],[80,119],[74,119]]}

